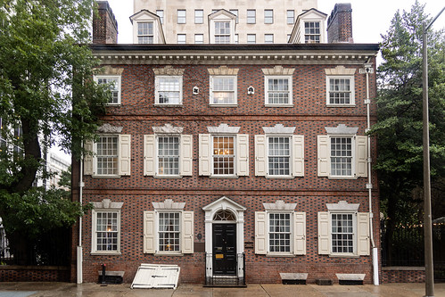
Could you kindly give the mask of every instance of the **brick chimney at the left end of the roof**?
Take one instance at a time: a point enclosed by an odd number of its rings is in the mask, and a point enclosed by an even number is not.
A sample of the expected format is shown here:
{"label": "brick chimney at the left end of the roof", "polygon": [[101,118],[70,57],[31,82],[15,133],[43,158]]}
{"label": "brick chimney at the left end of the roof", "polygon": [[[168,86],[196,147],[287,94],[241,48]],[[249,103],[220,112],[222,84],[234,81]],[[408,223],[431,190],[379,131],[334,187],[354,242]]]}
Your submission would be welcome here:
{"label": "brick chimney at the left end of the roof", "polygon": [[93,43],[117,44],[118,22],[108,1],[97,1],[97,13],[93,16]]}

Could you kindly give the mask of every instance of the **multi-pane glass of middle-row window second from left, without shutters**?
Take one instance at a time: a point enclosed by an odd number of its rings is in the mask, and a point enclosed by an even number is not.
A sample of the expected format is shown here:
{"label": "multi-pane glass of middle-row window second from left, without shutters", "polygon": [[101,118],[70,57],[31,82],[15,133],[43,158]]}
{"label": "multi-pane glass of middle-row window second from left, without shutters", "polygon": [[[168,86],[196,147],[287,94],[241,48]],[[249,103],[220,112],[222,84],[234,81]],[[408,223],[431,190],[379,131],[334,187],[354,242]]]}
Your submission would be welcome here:
{"label": "multi-pane glass of middle-row window second from left, without shutters", "polygon": [[179,137],[158,137],[158,174],[179,175]]}

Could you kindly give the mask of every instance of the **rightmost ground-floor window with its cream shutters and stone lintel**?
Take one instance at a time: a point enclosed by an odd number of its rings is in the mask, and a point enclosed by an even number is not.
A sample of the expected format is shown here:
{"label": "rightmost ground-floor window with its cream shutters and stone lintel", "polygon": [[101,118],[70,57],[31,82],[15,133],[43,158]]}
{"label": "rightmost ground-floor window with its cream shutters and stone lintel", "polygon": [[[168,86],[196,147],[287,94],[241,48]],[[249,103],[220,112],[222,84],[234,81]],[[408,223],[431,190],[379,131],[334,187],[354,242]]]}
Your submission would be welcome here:
{"label": "rightmost ground-floor window with its cream shutters and stone lintel", "polygon": [[337,256],[369,255],[369,213],[359,203],[326,203],[318,212],[318,253]]}

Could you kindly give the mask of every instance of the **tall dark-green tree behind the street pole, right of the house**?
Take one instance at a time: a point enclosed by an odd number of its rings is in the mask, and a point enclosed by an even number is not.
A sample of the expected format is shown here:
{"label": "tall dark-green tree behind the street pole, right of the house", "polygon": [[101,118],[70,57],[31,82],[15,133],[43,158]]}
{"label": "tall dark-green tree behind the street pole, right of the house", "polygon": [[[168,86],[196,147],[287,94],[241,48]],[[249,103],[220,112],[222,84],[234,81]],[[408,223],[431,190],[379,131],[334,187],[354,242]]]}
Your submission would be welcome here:
{"label": "tall dark-green tree behind the street pole, right of the house", "polygon": [[[422,24],[428,21],[424,5],[416,1],[410,12],[396,12],[381,44],[378,123],[372,132],[378,139],[375,169],[390,233],[397,224],[418,223],[423,218]],[[431,173],[433,193],[438,194],[444,189],[445,177],[443,29],[430,30],[428,65]]]}

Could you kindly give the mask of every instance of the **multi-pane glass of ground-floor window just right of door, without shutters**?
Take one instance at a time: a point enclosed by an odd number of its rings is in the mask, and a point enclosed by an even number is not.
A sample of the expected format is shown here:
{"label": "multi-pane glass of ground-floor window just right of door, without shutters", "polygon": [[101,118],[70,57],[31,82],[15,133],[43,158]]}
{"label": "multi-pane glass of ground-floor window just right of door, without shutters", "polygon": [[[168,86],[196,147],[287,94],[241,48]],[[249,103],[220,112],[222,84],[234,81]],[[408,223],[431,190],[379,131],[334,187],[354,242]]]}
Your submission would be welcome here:
{"label": "multi-pane glass of ground-floor window just right of door, without shutters", "polygon": [[269,213],[269,251],[291,252],[291,213]]}

